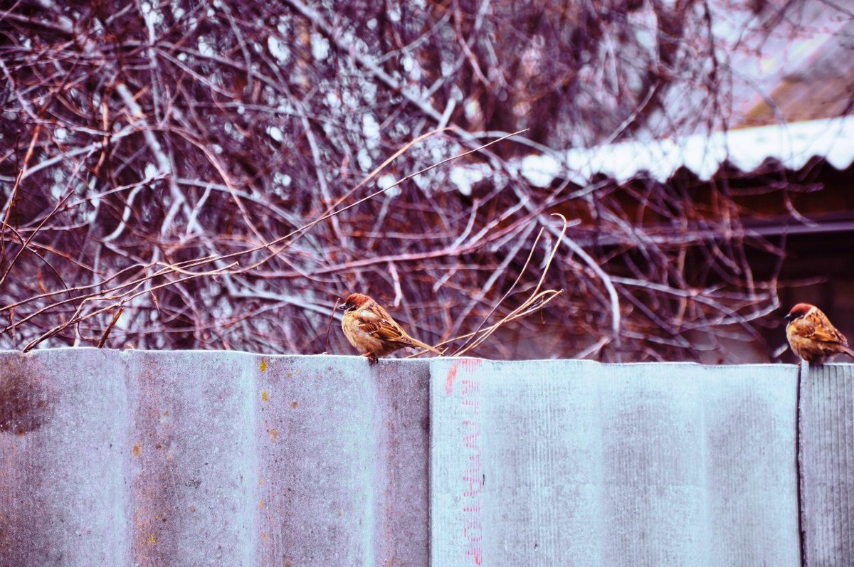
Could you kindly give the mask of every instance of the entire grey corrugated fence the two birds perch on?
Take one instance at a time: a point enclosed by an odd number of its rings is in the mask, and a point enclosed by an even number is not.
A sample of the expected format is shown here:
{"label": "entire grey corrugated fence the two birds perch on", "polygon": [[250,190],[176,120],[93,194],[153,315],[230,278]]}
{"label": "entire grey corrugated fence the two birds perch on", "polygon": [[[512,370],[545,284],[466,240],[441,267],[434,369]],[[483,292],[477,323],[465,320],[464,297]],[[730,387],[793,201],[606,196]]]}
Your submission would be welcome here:
{"label": "entire grey corrugated fence the two birds perch on", "polygon": [[0,565],[851,565],[852,381],[0,353]]}

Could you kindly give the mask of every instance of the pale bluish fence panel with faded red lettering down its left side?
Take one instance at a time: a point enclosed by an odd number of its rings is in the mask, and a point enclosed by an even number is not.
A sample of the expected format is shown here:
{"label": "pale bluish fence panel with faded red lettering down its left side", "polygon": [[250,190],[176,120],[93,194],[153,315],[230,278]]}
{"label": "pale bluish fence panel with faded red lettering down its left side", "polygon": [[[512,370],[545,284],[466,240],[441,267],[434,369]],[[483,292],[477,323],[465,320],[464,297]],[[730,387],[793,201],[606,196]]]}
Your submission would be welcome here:
{"label": "pale bluish fence panel with faded red lettering down its left side", "polygon": [[796,370],[431,361],[434,565],[797,565]]}

